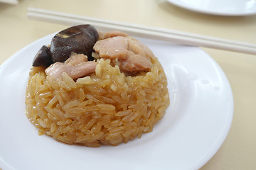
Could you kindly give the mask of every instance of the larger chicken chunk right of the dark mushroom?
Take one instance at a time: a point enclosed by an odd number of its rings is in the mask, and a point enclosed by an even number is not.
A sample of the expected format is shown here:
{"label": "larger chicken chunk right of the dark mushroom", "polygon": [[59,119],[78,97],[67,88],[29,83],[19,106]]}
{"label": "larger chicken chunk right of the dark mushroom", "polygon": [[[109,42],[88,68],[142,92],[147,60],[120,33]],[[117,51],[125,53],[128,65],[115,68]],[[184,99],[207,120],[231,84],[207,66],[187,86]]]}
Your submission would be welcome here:
{"label": "larger chicken chunk right of the dark mushroom", "polygon": [[99,40],[93,49],[102,58],[116,59],[123,72],[136,73],[149,71],[152,67],[150,58],[154,56],[148,47],[131,37],[117,36]]}

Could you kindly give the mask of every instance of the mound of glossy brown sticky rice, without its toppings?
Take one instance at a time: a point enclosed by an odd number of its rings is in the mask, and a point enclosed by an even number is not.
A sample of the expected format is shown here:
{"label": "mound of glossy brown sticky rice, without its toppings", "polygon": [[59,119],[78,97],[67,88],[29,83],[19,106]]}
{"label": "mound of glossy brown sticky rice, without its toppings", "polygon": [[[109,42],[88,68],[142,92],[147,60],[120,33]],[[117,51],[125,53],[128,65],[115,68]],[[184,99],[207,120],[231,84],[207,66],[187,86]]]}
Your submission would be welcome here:
{"label": "mound of glossy brown sticky rice, without its toppings", "polygon": [[46,76],[32,67],[26,89],[26,116],[38,128],[68,144],[119,145],[151,132],[169,106],[164,69],[156,58],[149,72],[126,76],[110,60],[74,81]]}

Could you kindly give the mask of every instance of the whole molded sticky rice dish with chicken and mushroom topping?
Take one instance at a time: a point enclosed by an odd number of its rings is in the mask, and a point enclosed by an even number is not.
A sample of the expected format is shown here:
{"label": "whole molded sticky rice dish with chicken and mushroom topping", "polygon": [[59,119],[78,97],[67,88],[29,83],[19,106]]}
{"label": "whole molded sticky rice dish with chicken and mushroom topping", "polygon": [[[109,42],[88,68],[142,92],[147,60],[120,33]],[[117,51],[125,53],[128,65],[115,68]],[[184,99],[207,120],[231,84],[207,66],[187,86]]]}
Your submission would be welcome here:
{"label": "whole molded sticky rice dish with chicken and mushroom topping", "polygon": [[169,106],[164,69],[125,33],[80,25],[60,31],[36,54],[26,116],[39,135],[100,147],[151,132]]}

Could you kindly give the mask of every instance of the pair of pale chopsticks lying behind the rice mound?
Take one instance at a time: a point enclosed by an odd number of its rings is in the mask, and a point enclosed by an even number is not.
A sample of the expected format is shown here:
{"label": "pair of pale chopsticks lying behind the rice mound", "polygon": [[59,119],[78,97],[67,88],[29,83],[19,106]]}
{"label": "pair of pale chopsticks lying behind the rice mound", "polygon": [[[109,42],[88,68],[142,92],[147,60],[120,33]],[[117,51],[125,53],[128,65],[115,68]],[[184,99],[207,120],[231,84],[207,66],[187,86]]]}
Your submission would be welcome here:
{"label": "pair of pale chopsticks lying behind the rice mound", "polygon": [[117,21],[110,21],[105,19],[103,20],[100,18],[92,18],[88,16],[79,16],[71,13],[49,11],[41,8],[28,8],[27,16],[30,19],[46,21],[50,23],[59,23],[68,26],[74,26],[78,24],[91,24],[95,26],[97,30],[120,30],[124,33],[140,38],[151,38],[154,40],[170,41],[180,45],[208,47],[218,50],[228,50],[256,55],[256,45],[248,42],[226,40],[223,38],[214,38],[206,35],[185,33],[165,28],[141,26],[132,23],[120,23]]}

